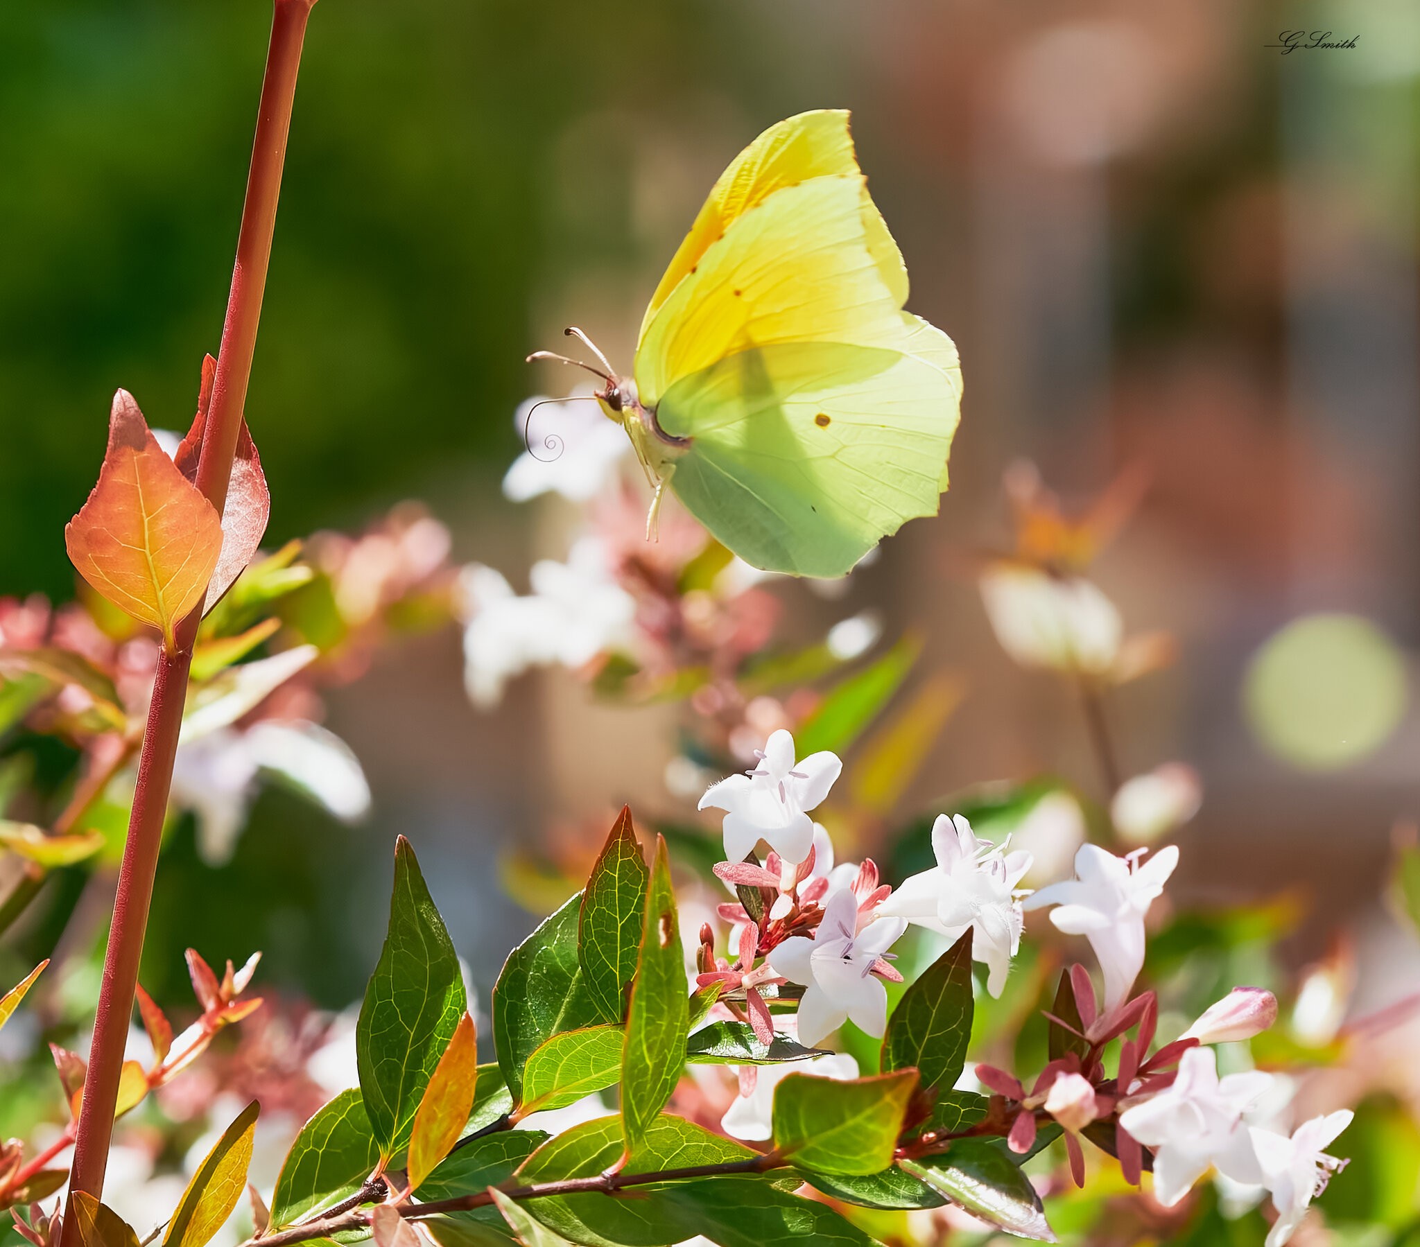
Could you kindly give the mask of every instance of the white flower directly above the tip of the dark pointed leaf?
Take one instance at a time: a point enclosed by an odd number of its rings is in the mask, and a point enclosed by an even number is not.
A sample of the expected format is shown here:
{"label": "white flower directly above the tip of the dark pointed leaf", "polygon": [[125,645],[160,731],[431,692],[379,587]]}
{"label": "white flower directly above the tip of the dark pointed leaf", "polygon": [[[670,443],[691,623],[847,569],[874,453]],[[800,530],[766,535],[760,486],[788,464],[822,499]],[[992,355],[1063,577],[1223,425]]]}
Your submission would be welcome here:
{"label": "white flower directly above the tip of the dark pointed leaf", "polygon": [[1021,902],[1015,885],[1031,868],[1031,855],[1003,855],[977,839],[960,814],[937,817],[932,827],[937,865],[903,881],[878,913],[906,917],[956,942],[971,930],[971,956],[988,967],[987,990],[1000,996],[1011,957],[1021,944]]}

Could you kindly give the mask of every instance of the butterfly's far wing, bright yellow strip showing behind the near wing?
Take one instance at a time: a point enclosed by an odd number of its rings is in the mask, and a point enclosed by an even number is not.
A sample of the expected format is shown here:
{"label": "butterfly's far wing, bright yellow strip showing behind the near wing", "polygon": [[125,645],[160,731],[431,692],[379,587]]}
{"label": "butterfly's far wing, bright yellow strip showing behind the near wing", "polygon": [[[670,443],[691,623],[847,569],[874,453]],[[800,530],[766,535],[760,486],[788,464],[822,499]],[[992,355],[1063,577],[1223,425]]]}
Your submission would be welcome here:
{"label": "butterfly's far wing, bright yellow strip showing behind the near wing", "polygon": [[[777,190],[798,186],[812,178],[829,176],[862,176],[853,156],[853,138],[845,109],[822,108],[801,112],[798,116],[771,125],[734,158],[710,190],[690,233],[686,234],[650,298],[642,320],[642,337],[670,291],[694,273],[706,249],[721,239],[746,212]],[[886,222],[868,195],[866,183],[861,186],[859,212],[863,219],[863,234],[879,274],[897,300],[897,307],[902,307],[907,301],[907,268],[902,263],[897,244],[888,233]]]}

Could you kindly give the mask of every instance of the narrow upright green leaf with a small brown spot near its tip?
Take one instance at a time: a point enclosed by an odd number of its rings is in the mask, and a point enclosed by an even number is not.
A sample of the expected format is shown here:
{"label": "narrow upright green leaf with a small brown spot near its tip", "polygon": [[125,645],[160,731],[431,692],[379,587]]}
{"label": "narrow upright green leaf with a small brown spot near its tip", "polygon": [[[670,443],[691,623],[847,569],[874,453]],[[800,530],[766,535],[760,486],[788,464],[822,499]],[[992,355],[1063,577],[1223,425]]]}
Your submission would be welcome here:
{"label": "narrow upright green leaf with a small brown spot near its tip", "polygon": [[626,1015],[622,1054],[622,1118],[635,1148],[670,1099],[686,1065],[686,963],[670,886],[666,842],[656,837],[656,862],[646,888],[640,959]]}

